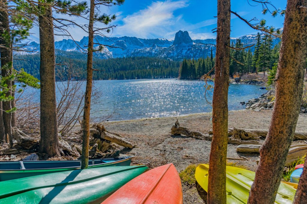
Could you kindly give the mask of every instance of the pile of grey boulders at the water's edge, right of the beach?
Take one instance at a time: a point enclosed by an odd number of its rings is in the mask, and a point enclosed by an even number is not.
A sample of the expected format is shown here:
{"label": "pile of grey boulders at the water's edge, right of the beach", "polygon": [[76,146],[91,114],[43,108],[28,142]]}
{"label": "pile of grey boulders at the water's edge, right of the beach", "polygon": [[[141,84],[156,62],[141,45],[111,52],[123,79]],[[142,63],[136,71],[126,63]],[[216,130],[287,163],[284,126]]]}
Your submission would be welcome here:
{"label": "pile of grey boulders at the water's edge, right of the beach", "polygon": [[[273,109],[275,102],[275,89],[270,89],[265,94],[262,94],[259,98],[253,98],[247,103],[241,102],[241,105],[245,105],[245,109],[253,109],[255,111],[271,110]],[[301,107],[301,113],[307,113],[307,109]]]}

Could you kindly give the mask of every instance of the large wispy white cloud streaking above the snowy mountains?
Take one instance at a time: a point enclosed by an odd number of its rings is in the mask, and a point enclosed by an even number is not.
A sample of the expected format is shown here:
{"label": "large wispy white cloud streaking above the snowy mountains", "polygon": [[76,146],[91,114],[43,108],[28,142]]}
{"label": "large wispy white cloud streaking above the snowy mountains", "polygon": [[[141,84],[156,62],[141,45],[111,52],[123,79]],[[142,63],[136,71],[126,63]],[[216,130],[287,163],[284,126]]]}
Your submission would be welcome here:
{"label": "large wispy white cloud streaking above the snowy mountains", "polygon": [[124,17],[123,25],[116,28],[116,34],[141,38],[163,35],[173,30],[170,27],[181,20],[181,15],[175,17],[173,12],[187,6],[186,0],[153,2],[146,9]]}

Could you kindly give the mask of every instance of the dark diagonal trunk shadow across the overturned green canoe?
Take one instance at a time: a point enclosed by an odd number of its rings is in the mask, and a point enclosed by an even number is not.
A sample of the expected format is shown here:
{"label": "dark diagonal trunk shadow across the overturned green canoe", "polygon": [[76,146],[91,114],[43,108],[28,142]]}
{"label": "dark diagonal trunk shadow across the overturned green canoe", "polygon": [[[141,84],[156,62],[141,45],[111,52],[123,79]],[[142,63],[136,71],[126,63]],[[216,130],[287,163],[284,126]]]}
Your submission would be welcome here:
{"label": "dark diagonal trunk shadow across the overturned green canoe", "polygon": [[39,203],[40,204],[50,203],[52,199],[56,197],[56,195],[58,195],[61,191],[63,191],[63,189],[67,186],[67,183],[69,181],[74,180],[81,171],[82,171],[81,169],[72,171],[63,181],[55,184],[53,189],[45,197],[43,197]]}

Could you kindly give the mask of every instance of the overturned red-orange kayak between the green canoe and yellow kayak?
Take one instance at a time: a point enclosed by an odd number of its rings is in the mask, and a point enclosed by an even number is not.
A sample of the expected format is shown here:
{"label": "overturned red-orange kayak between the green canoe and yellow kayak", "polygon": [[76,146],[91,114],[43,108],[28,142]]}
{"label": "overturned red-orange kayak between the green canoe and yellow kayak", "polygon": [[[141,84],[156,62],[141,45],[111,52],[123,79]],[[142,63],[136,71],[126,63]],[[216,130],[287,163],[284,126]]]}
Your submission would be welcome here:
{"label": "overturned red-orange kayak between the green canoe and yellow kayak", "polygon": [[183,203],[180,177],[172,163],[137,176],[102,202],[102,204],[144,203]]}

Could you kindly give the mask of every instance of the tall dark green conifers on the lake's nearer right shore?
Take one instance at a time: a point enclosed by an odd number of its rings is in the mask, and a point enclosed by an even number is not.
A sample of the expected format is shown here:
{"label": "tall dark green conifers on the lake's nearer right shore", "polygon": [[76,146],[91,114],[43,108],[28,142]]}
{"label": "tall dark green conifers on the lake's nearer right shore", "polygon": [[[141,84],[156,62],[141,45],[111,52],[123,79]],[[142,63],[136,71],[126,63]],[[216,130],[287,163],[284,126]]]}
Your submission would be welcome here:
{"label": "tall dark green conifers on the lake's nearer right shore", "polygon": [[[231,47],[243,48],[244,45],[240,39],[231,43]],[[250,72],[268,72],[277,65],[279,58],[280,43],[273,46],[272,36],[257,35],[257,42],[254,45],[255,51],[251,48],[244,50],[230,49],[229,74],[250,73]],[[180,79],[200,79],[201,76],[208,73],[214,66],[215,59],[211,57],[195,59],[185,59],[179,68]],[[211,73],[214,74],[214,71]]]}

